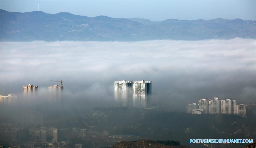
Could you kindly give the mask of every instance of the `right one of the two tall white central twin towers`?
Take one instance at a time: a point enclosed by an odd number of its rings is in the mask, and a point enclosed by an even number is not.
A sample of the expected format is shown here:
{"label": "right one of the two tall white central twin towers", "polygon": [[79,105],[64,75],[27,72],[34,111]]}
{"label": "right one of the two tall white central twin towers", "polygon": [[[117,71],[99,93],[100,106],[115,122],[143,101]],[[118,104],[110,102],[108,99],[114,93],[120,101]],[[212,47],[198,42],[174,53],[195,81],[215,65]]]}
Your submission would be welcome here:
{"label": "right one of the two tall white central twin towers", "polygon": [[133,107],[150,108],[151,81],[133,81]]}

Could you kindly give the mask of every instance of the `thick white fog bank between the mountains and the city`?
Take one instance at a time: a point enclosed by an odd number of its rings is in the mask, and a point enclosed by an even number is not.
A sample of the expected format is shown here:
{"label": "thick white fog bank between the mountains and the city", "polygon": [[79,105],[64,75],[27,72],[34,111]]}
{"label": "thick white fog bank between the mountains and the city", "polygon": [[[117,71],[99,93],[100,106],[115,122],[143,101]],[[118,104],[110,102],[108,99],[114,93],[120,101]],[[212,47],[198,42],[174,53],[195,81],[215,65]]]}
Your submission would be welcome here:
{"label": "thick white fog bank between the mountains and the city", "polygon": [[219,96],[255,100],[255,40],[1,42],[1,94],[40,90],[63,80],[70,98],[113,102],[114,81],[152,81],[159,107]]}

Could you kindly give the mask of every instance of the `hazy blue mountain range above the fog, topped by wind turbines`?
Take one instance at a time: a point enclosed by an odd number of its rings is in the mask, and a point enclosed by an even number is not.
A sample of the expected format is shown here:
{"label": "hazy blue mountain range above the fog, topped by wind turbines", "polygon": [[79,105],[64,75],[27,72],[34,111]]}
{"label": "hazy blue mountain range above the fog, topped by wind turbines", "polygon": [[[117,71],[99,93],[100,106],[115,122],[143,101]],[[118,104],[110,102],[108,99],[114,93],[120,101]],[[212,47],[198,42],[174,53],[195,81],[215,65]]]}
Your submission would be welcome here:
{"label": "hazy blue mountain range above the fog, topped by wind turbines", "polygon": [[141,41],[255,39],[252,20],[176,20],[151,22],[141,18],[87,17],[68,12],[47,14],[42,11],[8,12],[0,10],[1,41],[74,40]]}

